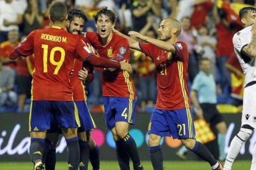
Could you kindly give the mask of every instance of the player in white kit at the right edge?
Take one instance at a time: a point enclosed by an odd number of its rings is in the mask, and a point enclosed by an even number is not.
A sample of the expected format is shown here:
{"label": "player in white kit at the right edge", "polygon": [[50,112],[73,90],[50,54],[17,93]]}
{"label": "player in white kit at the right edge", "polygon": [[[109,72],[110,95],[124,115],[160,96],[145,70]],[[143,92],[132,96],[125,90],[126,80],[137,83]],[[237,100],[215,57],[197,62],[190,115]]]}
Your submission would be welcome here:
{"label": "player in white kit at the right edge", "polygon": [[[233,44],[245,75],[242,124],[240,131],[230,144],[223,170],[232,168],[242,145],[256,128],[256,9],[244,7],[239,11],[239,17],[245,28],[234,34]],[[256,145],[254,145],[252,152],[250,170],[255,169]]]}

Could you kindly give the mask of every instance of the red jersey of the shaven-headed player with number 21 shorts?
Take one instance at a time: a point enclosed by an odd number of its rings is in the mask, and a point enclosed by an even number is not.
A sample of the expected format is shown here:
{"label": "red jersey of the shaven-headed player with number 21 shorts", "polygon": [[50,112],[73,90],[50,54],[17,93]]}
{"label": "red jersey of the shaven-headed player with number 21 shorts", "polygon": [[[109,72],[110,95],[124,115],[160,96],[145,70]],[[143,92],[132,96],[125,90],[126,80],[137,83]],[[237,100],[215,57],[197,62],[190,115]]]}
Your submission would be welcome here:
{"label": "red jersey of the shaven-headed player with number 21 shorts", "polygon": [[161,110],[190,108],[187,90],[189,52],[187,45],[182,41],[176,42],[174,47],[176,55],[153,44],[140,43],[140,49],[155,63],[158,89],[155,107]]}

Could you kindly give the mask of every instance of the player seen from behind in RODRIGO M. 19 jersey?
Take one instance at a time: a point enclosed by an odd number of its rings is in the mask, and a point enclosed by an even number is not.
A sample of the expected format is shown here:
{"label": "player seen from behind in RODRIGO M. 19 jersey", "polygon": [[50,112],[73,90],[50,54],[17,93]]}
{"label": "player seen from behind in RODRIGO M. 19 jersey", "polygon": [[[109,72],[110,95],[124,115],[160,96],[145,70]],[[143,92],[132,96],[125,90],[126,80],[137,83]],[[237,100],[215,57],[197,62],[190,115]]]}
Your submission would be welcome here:
{"label": "player seen from behind in RODRIGO M. 19 jersey", "polygon": [[69,169],[79,168],[77,127],[80,122],[72,99],[72,86],[69,83],[75,56],[96,66],[131,71],[129,63],[99,60],[90,50],[90,44],[82,41],[77,35],[67,33],[64,30],[66,16],[67,8],[64,3],[52,4],[49,9],[51,28],[32,31],[9,55],[9,59],[35,55],[29,116],[29,154],[34,169],[44,169],[41,161],[43,145],[52,116],[56,118],[67,142]]}

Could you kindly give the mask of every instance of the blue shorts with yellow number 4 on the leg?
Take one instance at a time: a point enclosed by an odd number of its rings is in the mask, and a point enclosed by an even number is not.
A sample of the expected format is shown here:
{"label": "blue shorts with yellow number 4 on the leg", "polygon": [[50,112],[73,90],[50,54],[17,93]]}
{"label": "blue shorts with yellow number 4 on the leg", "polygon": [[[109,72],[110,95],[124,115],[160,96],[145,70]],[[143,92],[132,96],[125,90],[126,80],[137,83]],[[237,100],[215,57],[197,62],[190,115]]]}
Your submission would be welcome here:
{"label": "blue shorts with yellow number 4 on the leg", "polygon": [[117,121],[135,123],[135,100],[124,97],[104,97],[106,127],[112,129]]}

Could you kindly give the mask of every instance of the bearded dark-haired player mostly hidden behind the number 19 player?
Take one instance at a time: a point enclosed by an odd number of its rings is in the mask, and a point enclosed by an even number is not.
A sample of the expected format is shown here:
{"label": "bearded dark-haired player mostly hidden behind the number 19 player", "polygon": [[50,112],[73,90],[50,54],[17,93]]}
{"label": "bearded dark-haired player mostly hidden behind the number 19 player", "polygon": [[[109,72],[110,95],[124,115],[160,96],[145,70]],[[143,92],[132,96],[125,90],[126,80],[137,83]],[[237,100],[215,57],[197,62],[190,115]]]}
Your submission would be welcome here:
{"label": "bearded dark-haired player mostly hidden behind the number 19 player", "polygon": [[[66,29],[72,34],[81,34],[83,26],[87,22],[86,15],[78,9],[71,9],[67,13],[67,25]],[[93,67],[90,63],[86,63],[87,69],[79,72],[82,68],[83,63],[80,60],[75,60],[74,69],[70,75],[70,85],[73,87],[73,97],[75,105],[77,105],[77,111],[79,113],[79,119],[81,126],[78,127],[78,137],[79,137],[79,148],[80,148],[80,170],[88,169],[88,160],[90,155],[90,161],[93,166],[93,170],[100,169],[100,153],[98,145],[93,141],[91,136],[91,130],[95,129],[95,123],[90,111],[87,107],[87,98],[85,94],[85,87],[82,81],[79,79],[79,74],[83,74],[84,80],[90,83],[93,79]],[[56,163],[56,144],[58,142],[58,127],[54,126],[47,132],[47,137],[49,141],[48,147],[46,147],[46,161],[45,168],[54,169]],[[50,148],[49,148],[50,147]],[[89,154],[90,153],[90,154]]]}

